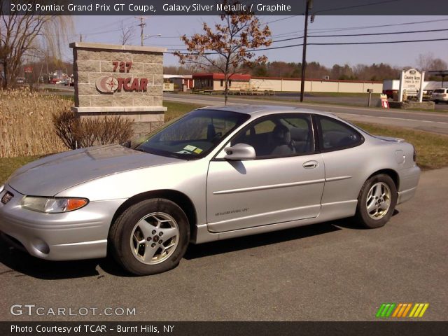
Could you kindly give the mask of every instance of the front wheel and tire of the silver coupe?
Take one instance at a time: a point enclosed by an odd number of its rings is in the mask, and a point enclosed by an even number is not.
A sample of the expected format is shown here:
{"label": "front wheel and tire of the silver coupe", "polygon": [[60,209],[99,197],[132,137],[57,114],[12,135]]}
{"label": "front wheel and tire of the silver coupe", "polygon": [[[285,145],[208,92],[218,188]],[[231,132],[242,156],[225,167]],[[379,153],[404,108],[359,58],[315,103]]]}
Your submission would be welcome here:
{"label": "front wheel and tire of the silver coupe", "polygon": [[113,258],[135,275],[173,269],[186,253],[189,241],[186,214],[176,203],[161,198],[132,205],[109,230]]}

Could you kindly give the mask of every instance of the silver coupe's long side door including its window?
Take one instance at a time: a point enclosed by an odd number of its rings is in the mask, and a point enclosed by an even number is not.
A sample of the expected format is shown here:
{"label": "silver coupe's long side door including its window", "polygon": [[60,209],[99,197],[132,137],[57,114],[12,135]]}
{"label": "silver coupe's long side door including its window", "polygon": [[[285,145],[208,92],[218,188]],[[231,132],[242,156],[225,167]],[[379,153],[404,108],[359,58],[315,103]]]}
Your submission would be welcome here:
{"label": "silver coupe's long side door including its window", "polygon": [[[283,131],[283,132],[282,132]],[[325,167],[315,151],[311,117],[288,113],[254,120],[227,146],[249,144],[255,160],[209,163],[207,225],[211,232],[318,216]]]}

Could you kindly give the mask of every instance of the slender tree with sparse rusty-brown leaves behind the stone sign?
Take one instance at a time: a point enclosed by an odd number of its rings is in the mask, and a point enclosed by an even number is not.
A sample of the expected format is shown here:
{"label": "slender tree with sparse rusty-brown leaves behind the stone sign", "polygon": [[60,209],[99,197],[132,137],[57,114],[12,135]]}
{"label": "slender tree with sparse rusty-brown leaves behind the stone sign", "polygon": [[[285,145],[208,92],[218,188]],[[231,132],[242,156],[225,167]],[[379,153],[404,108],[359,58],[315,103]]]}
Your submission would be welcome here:
{"label": "slender tree with sparse rusty-brown leaves behind the stone sign", "polygon": [[262,25],[253,13],[226,12],[220,18],[222,23],[217,23],[214,29],[204,22],[202,34],[195,34],[190,38],[182,36],[181,40],[186,44],[188,53],[176,51],[174,55],[179,57],[181,64],[216,69],[223,73],[227,104],[228,82],[232,75],[239,66],[265,63],[267,57],[262,55],[254,58],[253,50],[270,45],[272,40],[269,38],[269,27]]}

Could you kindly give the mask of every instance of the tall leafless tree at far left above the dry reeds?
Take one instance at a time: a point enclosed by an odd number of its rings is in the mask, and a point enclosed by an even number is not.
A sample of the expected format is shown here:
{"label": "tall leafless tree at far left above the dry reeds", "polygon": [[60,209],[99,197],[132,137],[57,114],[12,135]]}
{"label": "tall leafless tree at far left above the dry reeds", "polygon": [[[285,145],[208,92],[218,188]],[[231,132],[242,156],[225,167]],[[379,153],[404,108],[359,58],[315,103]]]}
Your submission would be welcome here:
{"label": "tall leafless tree at far left above the dry reeds", "polygon": [[[35,2],[28,1],[33,5]],[[71,17],[40,15],[33,11],[26,15],[3,13],[6,6],[6,3],[0,6],[0,64],[5,89],[20,76],[24,57],[36,57],[43,49],[50,50],[52,55],[60,55],[61,43],[73,29]]]}

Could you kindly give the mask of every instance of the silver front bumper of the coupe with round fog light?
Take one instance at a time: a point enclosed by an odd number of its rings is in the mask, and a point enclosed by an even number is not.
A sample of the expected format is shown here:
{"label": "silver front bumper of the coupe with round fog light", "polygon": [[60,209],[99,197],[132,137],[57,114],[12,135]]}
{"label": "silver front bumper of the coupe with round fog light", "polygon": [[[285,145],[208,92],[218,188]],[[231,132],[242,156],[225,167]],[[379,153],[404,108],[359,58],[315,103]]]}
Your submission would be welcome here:
{"label": "silver front bumper of the coupe with round fog light", "polygon": [[125,199],[90,202],[64,214],[43,214],[23,209],[20,202],[25,195],[8,184],[0,198],[8,191],[13,199],[7,204],[0,202],[0,232],[6,241],[48,260],[106,256],[112,218]]}

